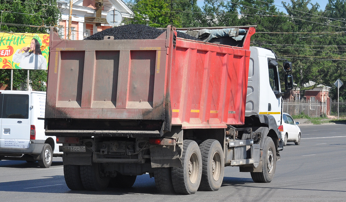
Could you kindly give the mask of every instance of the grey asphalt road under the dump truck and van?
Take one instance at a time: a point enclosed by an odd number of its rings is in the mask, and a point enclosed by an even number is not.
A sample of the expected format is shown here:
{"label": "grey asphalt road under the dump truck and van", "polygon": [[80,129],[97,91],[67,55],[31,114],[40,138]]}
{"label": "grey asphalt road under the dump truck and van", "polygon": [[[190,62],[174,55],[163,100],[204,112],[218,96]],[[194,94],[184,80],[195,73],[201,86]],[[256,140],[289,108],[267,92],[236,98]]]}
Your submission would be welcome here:
{"label": "grey asphalt road under the dump truck and van", "polygon": [[216,192],[164,195],[154,178],[138,176],[132,188],[101,192],[67,188],[61,158],[50,168],[36,163],[0,161],[1,202],[87,201],[346,201],[346,125],[301,125],[300,145],[289,142],[271,183],[254,183],[249,173],[226,167],[222,187]]}

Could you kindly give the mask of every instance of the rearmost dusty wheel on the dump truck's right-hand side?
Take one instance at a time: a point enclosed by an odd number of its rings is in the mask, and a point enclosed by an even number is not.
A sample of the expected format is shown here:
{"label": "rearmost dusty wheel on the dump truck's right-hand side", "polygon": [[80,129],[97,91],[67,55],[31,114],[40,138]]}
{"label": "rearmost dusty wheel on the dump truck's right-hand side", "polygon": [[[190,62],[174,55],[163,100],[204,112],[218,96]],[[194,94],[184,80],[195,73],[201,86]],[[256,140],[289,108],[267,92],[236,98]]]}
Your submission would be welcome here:
{"label": "rearmost dusty wheel on the dump truck's right-hand side", "polygon": [[177,194],[194,194],[198,190],[202,176],[201,151],[195,141],[183,141],[181,162],[183,167],[172,168],[174,191]]}

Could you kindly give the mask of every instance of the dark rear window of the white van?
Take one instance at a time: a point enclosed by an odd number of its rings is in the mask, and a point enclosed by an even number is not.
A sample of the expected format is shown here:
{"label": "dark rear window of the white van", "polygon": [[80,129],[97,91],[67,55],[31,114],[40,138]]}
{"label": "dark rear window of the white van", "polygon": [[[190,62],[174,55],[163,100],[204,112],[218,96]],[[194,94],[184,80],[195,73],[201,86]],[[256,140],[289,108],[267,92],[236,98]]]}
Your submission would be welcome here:
{"label": "dark rear window of the white van", "polygon": [[29,95],[4,94],[2,106],[2,118],[29,118]]}

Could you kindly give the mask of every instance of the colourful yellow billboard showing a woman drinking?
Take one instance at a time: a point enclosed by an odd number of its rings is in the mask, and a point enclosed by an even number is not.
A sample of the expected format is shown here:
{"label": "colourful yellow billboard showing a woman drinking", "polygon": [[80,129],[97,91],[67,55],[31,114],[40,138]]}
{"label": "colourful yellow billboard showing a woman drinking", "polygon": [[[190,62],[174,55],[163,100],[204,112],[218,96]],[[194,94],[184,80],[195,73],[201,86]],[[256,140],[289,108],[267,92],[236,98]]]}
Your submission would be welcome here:
{"label": "colourful yellow billboard showing a woman drinking", "polygon": [[49,34],[0,32],[0,69],[47,69]]}

